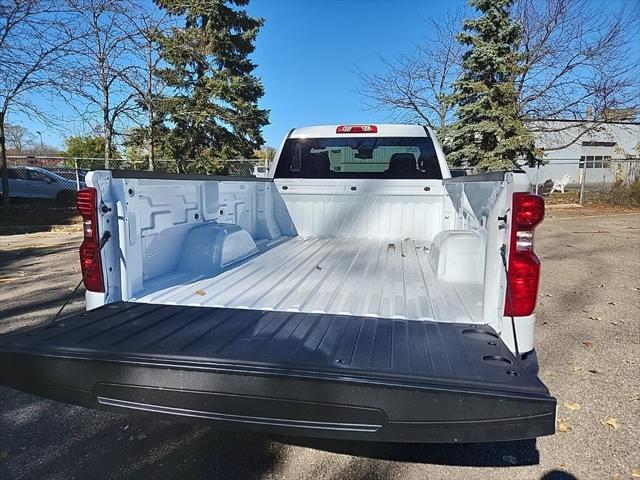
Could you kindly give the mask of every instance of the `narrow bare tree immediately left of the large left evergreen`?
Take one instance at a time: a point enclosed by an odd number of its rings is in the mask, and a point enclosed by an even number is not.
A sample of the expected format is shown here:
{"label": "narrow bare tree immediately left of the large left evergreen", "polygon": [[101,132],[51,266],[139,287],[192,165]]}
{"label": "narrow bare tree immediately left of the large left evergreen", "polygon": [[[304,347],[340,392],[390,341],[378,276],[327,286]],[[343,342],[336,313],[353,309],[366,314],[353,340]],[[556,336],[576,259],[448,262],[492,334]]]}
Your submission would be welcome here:
{"label": "narrow bare tree immediately left of the large left evergreen", "polygon": [[[160,55],[157,48],[158,35],[169,26],[168,16],[152,12],[140,12],[130,18],[132,27],[131,56],[135,61],[123,75],[123,81],[132,89],[134,100],[142,112],[134,111],[130,117],[146,129],[144,144],[148,153],[149,170],[155,169],[158,117],[157,99],[162,95],[166,84],[158,77]],[[142,118],[140,115],[142,113]]]}

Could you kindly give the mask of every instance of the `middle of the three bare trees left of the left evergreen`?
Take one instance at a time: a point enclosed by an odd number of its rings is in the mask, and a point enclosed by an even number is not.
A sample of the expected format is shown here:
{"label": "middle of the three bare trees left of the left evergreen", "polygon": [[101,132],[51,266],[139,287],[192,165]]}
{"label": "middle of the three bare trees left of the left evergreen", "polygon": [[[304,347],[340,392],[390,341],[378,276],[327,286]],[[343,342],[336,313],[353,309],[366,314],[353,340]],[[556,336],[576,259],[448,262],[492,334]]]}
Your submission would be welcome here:
{"label": "middle of the three bare trees left of the left evergreen", "polygon": [[[104,138],[105,168],[110,168],[118,121],[132,107],[133,92],[123,81],[133,67],[131,0],[67,0],[79,29],[74,43],[76,69],[67,83],[69,103],[88,123],[98,118]],[[93,123],[95,126],[95,123]]]}

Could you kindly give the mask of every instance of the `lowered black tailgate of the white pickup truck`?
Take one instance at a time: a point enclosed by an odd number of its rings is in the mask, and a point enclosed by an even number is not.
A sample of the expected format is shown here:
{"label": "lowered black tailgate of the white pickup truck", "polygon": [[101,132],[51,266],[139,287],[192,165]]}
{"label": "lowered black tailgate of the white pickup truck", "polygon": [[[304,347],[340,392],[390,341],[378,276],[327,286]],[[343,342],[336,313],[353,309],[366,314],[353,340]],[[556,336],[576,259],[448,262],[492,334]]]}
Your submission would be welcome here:
{"label": "lowered black tailgate of the white pickup truck", "polygon": [[88,407],[282,434],[494,441],[555,399],[489,327],[117,303],[0,337],[0,381]]}

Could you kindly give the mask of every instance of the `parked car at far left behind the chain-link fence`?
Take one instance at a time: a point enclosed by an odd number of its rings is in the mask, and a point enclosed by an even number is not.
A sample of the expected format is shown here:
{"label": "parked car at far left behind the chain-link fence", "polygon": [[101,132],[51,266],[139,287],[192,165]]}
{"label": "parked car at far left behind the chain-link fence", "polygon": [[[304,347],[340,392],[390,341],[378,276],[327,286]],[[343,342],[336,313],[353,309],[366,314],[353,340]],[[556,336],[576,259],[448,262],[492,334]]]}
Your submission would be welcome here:
{"label": "parked car at far left behind the chain-link fence", "polygon": [[[9,167],[7,171],[11,198],[51,199],[62,204],[75,200],[77,184],[74,180],[40,167]],[[81,188],[85,186],[84,182],[80,183]]]}

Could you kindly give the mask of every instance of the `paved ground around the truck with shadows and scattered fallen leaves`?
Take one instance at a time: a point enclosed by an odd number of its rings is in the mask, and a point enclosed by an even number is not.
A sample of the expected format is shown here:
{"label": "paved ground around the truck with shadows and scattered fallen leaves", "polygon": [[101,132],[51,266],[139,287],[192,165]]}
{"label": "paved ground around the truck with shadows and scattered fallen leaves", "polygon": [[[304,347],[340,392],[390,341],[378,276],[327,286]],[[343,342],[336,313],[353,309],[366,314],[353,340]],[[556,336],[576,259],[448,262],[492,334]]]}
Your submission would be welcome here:
{"label": "paved ground around the truck with shadows and scattered fallen leaves", "polygon": [[[0,478],[637,478],[640,215],[589,213],[552,210],[536,239],[540,375],[566,432],[488,445],[320,442],[92,411],[0,387]],[[55,314],[78,280],[79,240],[0,237],[0,332]],[[80,292],[69,312],[81,300]]]}

